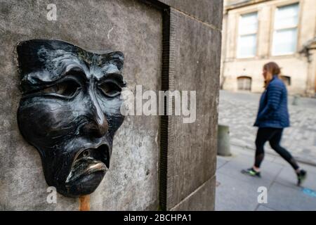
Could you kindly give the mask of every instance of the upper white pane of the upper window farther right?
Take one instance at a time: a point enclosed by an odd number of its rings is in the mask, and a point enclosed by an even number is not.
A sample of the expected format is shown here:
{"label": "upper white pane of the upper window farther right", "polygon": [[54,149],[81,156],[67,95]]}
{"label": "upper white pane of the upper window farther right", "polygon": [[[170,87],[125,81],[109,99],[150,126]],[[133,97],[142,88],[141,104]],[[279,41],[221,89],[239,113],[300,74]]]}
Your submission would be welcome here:
{"label": "upper white pane of the upper window farther right", "polygon": [[275,29],[296,27],[298,24],[298,4],[277,8],[275,15]]}

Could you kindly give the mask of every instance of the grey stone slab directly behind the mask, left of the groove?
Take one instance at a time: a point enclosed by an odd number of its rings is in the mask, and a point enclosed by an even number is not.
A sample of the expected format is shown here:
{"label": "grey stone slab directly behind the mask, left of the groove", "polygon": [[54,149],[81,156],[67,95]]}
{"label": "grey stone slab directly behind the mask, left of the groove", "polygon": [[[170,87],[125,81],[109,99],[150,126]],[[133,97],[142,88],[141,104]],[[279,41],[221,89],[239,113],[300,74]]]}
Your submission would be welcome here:
{"label": "grey stone slab directly behind the mask, left of the groove", "polygon": [[[48,21],[46,8],[54,2],[57,21]],[[57,204],[46,203],[39,154],[18,131],[15,46],[26,39],[62,39],[84,49],[122,51],[128,87],[158,90],[162,14],[136,0],[16,0],[1,1],[0,8],[0,205],[4,210],[78,210],[78,199],[61,195]],[[114,139],[110,172],[91,195],[91,210],[157,207],[158,136],[159,117],[126,117]]]}

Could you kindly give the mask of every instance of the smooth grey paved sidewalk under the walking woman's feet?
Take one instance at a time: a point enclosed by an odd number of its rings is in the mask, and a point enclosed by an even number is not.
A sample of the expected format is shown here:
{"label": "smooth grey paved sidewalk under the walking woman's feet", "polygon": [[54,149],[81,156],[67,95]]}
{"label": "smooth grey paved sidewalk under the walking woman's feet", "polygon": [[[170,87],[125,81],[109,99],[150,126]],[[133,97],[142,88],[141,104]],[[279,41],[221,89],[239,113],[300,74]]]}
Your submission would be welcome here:
{"label": "smooth grey paved sidewalk under the walking woman's feet", "polygon": [[[302,187],[282,158],[265,155],[261,178],[242,174],[251,167],[254,150],[231,146],[231,157],[217,158],[216,210],[316,210],[316,167],[300,164],[308,171]],[[258,203],[258,187],[268,189],[268,203]]]}

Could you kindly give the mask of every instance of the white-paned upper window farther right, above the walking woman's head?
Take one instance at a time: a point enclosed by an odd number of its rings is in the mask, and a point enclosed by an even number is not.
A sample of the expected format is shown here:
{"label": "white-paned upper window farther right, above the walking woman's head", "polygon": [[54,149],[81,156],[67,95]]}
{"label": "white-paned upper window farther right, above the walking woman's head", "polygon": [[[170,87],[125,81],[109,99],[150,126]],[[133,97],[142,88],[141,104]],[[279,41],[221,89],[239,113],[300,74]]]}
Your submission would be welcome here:
{"label": "white-paned upper window farther right, above the walking woman's head", "polygon": [[272,55],[289,55],[296,52],[298,4],[282,6],[275,11]]}

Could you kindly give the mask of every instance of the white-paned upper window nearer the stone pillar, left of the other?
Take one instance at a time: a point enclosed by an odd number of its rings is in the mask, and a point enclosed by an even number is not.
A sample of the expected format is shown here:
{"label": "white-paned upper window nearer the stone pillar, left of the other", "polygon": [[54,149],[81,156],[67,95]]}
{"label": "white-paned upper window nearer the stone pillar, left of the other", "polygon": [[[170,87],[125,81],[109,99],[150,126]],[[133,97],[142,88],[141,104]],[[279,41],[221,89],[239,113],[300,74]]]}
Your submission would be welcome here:
{"label": "white-paned upper window nearer the stone pillar, left of the other", "polygon": [[256,56],[257,31],[257,13],[248,13],[240,16],[237,58],[250,58]]}

